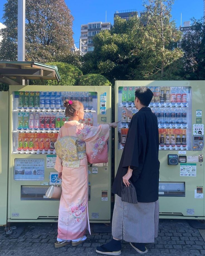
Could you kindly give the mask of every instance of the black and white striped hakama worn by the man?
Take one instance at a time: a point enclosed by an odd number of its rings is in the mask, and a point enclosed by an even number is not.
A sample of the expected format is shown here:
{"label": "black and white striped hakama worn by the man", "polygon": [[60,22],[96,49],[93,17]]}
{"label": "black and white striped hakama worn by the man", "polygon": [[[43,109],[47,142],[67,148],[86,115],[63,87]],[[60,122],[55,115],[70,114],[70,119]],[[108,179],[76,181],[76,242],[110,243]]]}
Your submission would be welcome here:
{"label": "black and white striped hakama worn by the man", "polygon": [[132,243],[154,243],[158,235],[159,202],[130,204],[116,195],[112,235]]}

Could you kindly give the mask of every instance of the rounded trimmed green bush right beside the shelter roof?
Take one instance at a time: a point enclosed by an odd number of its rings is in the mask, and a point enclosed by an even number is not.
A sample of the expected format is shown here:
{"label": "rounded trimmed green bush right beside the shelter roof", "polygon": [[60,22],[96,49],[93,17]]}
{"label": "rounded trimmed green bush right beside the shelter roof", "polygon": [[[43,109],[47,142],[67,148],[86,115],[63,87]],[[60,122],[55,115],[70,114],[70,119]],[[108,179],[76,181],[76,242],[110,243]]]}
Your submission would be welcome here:
{"label": "rounded trimmed green bush right beside the shelter roof", "polygon": [[82,71],[79,70],[74,65],[64,63],[64,62],[48,62],[47,65],[53,65],[58,67],[58,72],[60,74],[60,82],[57,80],[31,80],[30,84],[37,85],[78,85],[79,80],[82,77]]}

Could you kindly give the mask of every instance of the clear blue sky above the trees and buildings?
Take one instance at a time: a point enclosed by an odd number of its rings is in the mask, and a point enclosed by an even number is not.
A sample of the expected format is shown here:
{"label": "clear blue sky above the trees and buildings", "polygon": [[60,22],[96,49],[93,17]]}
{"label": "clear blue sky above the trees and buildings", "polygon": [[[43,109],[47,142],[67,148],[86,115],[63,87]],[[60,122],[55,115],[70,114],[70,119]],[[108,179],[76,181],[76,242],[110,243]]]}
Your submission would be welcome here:
{"label": "clear blue sky above the trees and buildings", "polygon": [[[107,11],[107,21],[113,24],[113,16],[115,11],[126,9],[137,9],[142,11],[142,0],[126,0],[126,1],[69,1],[65,0],[68,8],[74,16],[73,31],[74,42],[79,47],[80,25],[93,21],[105,21],[105,12]],[[6,0],[0,0],[0,22],[3,23],[3,5]],[[203,0],[175,0],[172,8],[172,18],[176,21],[177,26],[181,22],[190,20],[192,17],[199,19],[203,16]]]}

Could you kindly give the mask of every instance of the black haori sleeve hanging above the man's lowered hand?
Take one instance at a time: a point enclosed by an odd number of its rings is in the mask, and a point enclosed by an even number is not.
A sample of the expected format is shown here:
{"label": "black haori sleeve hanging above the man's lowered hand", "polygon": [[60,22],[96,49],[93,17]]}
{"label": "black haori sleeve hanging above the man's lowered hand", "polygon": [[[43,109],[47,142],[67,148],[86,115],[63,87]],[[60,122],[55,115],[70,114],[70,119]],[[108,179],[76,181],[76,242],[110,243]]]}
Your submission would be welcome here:
{"label": "black haori sleeve hanging above the man's lowered hand", "polygon": [[144,162],[145,159],[146,141],[147,135],[145,129],[145,118],[140,114],[135,114],[126,139],[126,148],[122,167],[131,166],[133,170],[137,170],[139,167],[139,159],[140,162]]}

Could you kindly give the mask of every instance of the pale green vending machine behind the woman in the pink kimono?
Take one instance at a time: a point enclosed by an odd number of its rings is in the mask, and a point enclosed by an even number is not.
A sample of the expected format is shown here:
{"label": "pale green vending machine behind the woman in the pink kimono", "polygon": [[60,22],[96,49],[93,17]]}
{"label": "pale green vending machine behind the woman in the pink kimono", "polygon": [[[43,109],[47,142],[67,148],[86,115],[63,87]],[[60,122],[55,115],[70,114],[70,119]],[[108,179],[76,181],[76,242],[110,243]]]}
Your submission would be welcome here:
{"label": "pale green vending machine behind the woman in the pink kimono", "polygon": [[[65,99],[84,105],[85,124],[111,122],[109,86],[10,86],[8,222],[58,220],[59,200],[45,196],[55,184],[55,148],[65,117]],[[108,142],[108,148],[111,140]],[[111,155],[108,163],[89,165],[89,219],[111,218]],[[58,183],[60,185],[60,181]]]}

